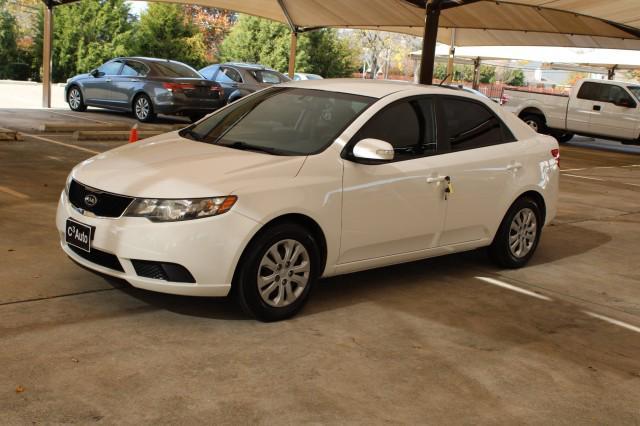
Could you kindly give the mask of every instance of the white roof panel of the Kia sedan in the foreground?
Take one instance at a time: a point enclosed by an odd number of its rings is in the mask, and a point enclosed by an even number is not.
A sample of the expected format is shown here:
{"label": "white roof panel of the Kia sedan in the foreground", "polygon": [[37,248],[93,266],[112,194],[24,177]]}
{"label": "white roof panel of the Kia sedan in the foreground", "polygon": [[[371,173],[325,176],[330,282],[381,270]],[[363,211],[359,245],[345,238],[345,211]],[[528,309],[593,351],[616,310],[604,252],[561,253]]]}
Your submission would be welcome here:
{"label": "white roof panel of the Kia sedan in the foreground", "polygon": [[[353,95],[383,98],[397,92],[419,89],[425,94],[447,94],[462,90],[449,86],[428,86],[407,81],[364,80],[360,78],[326,78],[324,80],[298,80],[281,83],[278,87],[299,87],[304,89],[326,90],[328,92],[349,93]],[[464,93],[464,92],[463,92]]]}

